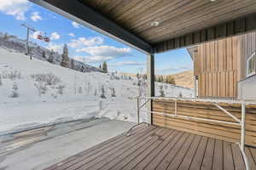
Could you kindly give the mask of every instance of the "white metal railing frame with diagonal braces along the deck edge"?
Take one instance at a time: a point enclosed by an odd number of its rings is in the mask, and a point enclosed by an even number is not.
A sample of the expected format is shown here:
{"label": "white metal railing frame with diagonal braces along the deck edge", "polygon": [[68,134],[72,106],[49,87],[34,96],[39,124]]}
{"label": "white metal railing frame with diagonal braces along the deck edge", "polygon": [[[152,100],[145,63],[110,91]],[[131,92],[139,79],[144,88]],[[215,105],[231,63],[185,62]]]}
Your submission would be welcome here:
{"label": "white metal railing frame with diagonal braces along the deck edge", "polygon": [[[143,106],[147,105],[147,103],[152,99],[160,99],[160,100],[174,100],[174,113],[165,113],[165,112],[159,112],[159,111],[150,111],[151,114],[156,114],[160,116],[172,116],[177,118],[182,118],[186,120],[197,120],[197,121],[205,121],[205,122],[217,122],[217,123],[224,123],[224,124],[232,124],[236,126],[241,127],[241,139],[240,143],[238,143],[239,148],[241,150],[241,154],[243,157],[243,160],[246,165],[246,169],[250,170],[249,163],[247,161],[247,156],[245,154],[245,138],[246,138],[246,105],[256,105],[256,101],[254,100],[229,100],[229,99],[197,99],[197,98],[163,98],[163,97],[137,97],[137,125],[140,125],[145,122],[140,122],[140,111],[143,108]],[[146,102],[141,105],[141,100],[146,99]],[[195,116],[183,116],[177,114],[177,101],[192,101],[192,102],[207,102],[212,103],[212,105],[215,105],[220,111],[223,111],[226,115],[230,116],[232,119],[235,120],[235,122],[227,122],[227,121],[218,121],[215,119],[209,119],[209,118],[200,118]],[[222,106],[218,105],[219,103],[227,103],[227,104],[241,104],[241,120],[238,119],[236,116],[232,115],[229,111],[226,111]],[[136,126],[137,126],[136,125]],[[134,127],[136,127],[134,126]],[[130,133],[130,130],[129,130]]]}

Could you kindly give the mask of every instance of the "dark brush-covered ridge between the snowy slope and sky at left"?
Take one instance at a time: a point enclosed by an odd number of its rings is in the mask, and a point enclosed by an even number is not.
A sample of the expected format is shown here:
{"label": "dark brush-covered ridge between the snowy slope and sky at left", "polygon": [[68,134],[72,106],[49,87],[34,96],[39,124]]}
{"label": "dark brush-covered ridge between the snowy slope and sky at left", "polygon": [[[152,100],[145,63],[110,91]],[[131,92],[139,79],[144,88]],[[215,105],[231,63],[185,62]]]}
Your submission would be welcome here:
{"label": "dark brush-covered ridge between the snowy slope and sky at left", "polygon": [[[0,32],[0,48],[5,48],[9,51],[13,51],[20,54],[26,54],[26,40],[20,39],[19,37],[15,37],[6,33]],[[51,51],[48,48],[44,48],[39,46],[35,42],[29,42],[30,54],[32,54],[33,58],[41,59],[44,61],[49,60],[49,55]],[[53,52],[53,60],[51,62],[54,65],[61,65],[61,54]],[[90,72],[97,71],[103,72],[102,69],[86,65],[83,62],[73,59],[73,68],[76,71],[81,72]]]}

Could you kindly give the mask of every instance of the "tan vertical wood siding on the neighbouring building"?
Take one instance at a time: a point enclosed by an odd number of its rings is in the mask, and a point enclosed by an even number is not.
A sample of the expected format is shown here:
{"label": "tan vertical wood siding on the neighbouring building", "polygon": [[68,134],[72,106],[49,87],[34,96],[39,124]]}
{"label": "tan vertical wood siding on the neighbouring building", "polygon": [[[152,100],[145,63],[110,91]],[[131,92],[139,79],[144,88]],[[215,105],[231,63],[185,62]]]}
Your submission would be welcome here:
{"label": "tan vertical wood siding on the neighbouring building", "polygon": [[199,97],[236,98],[241,37],[203,43],[194,50]]}

